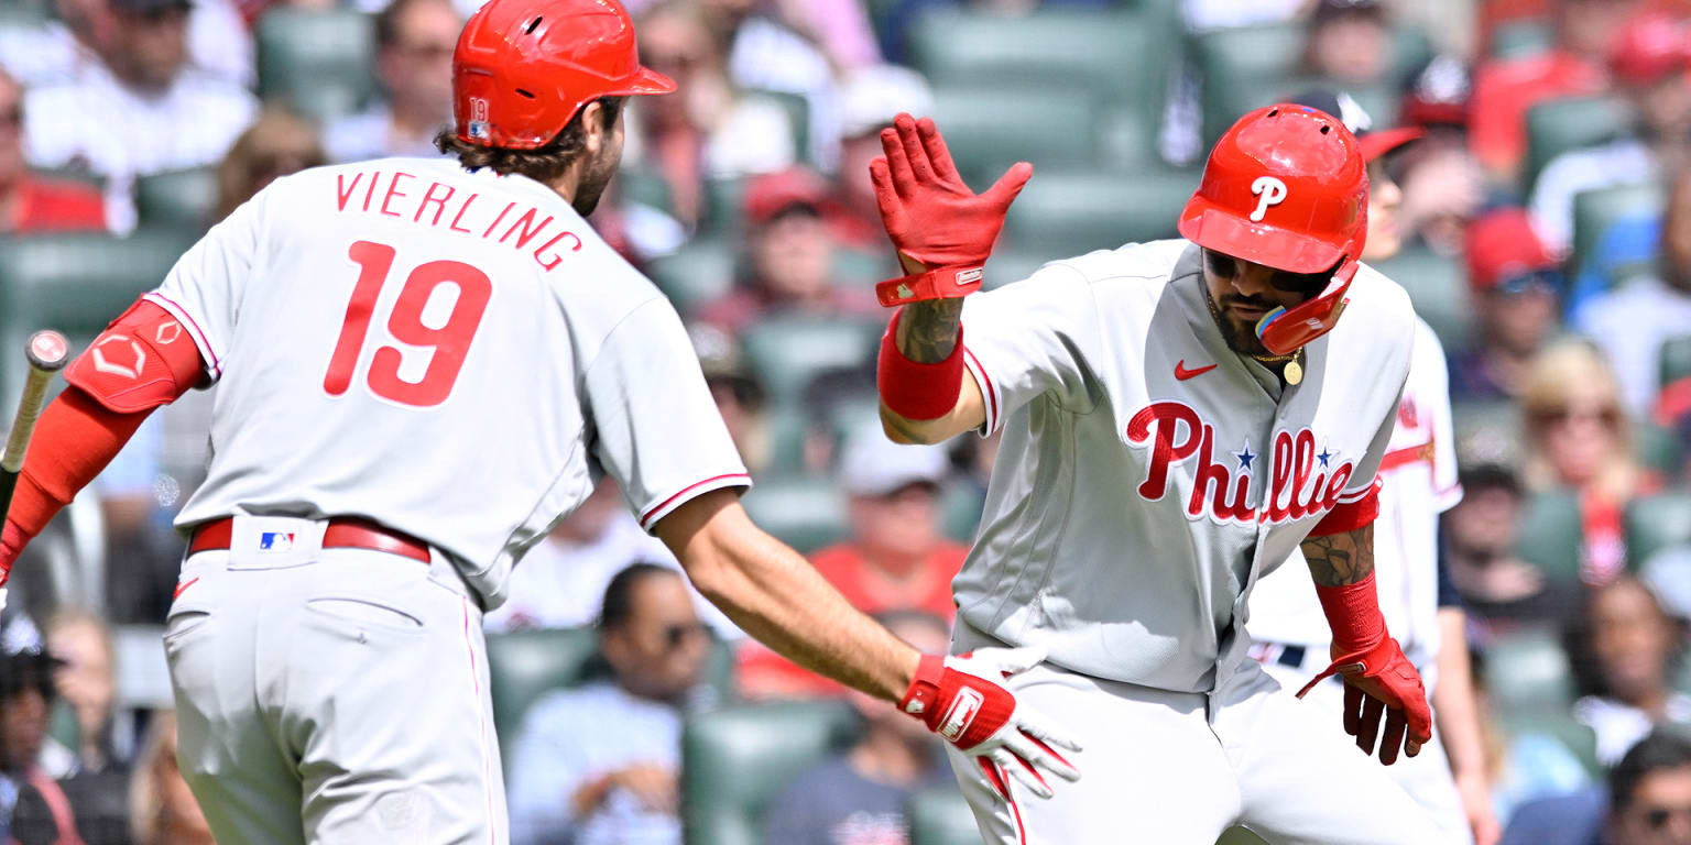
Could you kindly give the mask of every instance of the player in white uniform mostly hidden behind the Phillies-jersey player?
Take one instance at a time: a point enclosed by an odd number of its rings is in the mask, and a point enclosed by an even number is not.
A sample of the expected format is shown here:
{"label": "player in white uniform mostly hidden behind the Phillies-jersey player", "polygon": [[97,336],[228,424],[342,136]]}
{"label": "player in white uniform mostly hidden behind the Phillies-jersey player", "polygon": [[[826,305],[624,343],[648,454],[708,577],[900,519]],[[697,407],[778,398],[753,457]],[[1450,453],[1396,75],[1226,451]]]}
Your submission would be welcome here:
{"label": "player in white uniform mostly hidden behind the Phillies-jersey player", "polygon": [[[1387,174],[1385,157],[1419,139],[1420,130],[1370,132],[1368,113],[1343,93],[1309,91],[1294,100],[1339,115],[1356,134],[1368,162],[1368,243],[1363,260],[1397,255],[1402,245],[1397,204],[1402,194]],[[1393,766],[1388,774],[1439,825],[1442,842],[1495,845],[1502,831],[1486,794],[1485,749],[1468,681],[1464,615],[1454,586],[1437,564],[1439,514],[1463,495],[1456,483],[1446,380],[1444,348],[1432,328],[1417,318],[1409,380],[1380,461],[1375,580],[1387,627],[1427,686],[1441,742]],[[1275,570],[1256,585],[1250,602],[1250,630],[1256,641],[1251,654],[1282,686],[1295,690],[1326,666],[1331,635],[1309,580],[1292,570]],[[1331,681],[1316,684],[1305,696],[1329,711],[1339,710],[1343,698],[1343,686]]]}

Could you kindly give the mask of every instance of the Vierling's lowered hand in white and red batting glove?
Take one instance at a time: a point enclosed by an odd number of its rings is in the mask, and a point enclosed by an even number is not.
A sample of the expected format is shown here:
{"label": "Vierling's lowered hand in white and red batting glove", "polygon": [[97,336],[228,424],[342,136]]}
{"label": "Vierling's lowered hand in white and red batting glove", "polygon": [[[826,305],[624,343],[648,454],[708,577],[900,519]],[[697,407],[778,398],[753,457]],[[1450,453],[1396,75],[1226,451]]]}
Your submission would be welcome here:
{"label": "Vierling's lowered hand in white and red batting glove", "polygon": [[1003,684],[1043,659],[1042,647],[977,649],[955,657],[927,654],[898,706],[959,750],[993,760],[1033,794],[1050,798],[1052,788],[1040,772],[1079,781],[1081,772],[1057,749],[1074,752],[1081,744],[1052,728]]}

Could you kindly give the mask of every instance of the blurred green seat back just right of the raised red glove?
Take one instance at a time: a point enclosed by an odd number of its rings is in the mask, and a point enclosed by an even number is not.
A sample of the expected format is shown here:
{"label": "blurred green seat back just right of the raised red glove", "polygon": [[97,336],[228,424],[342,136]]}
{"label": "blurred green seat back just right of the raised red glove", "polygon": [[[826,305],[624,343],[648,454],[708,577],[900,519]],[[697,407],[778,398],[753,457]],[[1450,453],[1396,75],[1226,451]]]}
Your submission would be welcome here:
{"label": "blurred green seat back just right of the raised red glove", "polygon": [[[1091,91],[1030,84],[949,84],[933,90],[957,171],[984,191],[1018,161],[1035,167],[1089,166],[1099,157],[1099,101]],[[1013,120],[1006,117],[1015,115]]]}

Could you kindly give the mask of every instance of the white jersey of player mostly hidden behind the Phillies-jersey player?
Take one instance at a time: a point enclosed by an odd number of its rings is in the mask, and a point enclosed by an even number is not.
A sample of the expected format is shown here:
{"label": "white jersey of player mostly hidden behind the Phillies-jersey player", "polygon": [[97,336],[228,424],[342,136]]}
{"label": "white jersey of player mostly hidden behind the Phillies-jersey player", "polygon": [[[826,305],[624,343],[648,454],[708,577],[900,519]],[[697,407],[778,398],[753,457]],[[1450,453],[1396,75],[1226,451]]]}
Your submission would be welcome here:
{"label": "white jersey of player mostly hidden behind the Phillies-jersey player", "polygon": [[[1415,321],[1397,428],[1380,465],[1380,517],[1375,519],[1375,585],[1387,629],[1432,690],[1439,654],[1439,514],[1456,507],[1456,444],[1449,372],[1437,335]],[[1324,664],[1333,630],[1316,600],[1302,553],[1256,585],[1250,603],[1251,637],[1309,646]]]}

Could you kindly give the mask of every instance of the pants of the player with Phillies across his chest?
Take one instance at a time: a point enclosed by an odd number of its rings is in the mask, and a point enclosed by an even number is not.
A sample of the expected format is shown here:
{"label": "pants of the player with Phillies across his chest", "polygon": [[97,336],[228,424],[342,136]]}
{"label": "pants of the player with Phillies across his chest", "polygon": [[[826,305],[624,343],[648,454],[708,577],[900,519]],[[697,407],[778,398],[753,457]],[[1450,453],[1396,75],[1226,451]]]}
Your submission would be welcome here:
{"label": "pants of the player with Phillies across his chest", "polygon": [[[996,641],[957,625],[954,652]],[[1324,710],[1302,706],[1255,661],[1214,693],[1170,693],[1042,664],[1010,679],[1020,701],[1075,735],[1079,782],[1032,796],[947,745],[989,845],[1214,845],[1248,825],[1273,845],[1449,842]],[[994,782],[1004,782],[999,793]]]}

